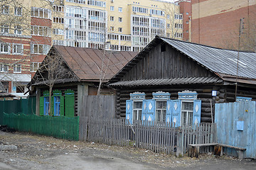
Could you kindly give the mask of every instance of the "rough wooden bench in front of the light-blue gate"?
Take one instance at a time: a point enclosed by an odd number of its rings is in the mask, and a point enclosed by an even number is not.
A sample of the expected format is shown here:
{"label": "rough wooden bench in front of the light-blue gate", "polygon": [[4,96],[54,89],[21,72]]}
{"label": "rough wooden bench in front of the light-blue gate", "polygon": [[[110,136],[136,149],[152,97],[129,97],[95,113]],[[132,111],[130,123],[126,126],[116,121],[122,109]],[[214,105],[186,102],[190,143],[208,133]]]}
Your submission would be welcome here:
{"label": "rough wooden bench in front of the light-blue gate", "polygon": [[198,158],[200,147],[209,147],[209,146],[214,146],[214,154],[219,156],[223,156],[223,147],[236,149],[238,152],[238,159],[243,159],[244,151],[246,150],[245,148],[233,147],[231,145],[224,145],[224,144],[218,144],[218,143],[193,144],[193,145],[188,145],[188,157]]}

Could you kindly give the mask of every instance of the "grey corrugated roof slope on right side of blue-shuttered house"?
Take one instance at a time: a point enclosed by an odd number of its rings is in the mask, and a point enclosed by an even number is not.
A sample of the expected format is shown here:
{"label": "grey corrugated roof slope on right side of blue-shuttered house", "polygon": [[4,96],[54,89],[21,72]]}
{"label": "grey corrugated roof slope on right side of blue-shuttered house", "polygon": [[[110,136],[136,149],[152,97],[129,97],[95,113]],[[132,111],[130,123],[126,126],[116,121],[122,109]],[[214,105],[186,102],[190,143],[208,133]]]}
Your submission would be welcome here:
{"label": "grey corrugated roof slope on right side of blue-shuttered house", "polygon": [[[213,72],[233,76],[237,74],[238,51],[224,50],[169,38],[159,38]],[[256,79],[255,52],[239,52],[238,76]]]}

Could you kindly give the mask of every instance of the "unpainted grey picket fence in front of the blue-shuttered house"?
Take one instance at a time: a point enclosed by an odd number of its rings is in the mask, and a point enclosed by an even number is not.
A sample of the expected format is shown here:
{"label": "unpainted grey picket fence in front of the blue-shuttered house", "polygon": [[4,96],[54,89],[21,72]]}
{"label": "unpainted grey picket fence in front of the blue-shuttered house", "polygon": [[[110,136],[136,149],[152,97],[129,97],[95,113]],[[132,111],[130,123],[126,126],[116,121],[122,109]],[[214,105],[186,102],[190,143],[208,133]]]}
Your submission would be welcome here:
{"label": "unpainted grey picket fence in front of the blue-shuttered house", "polygon": [[[127,120],[123,119],[93,118],[86,124],[84,127],[87,130],[83,130],[85,137],[80,137],[80,139],[107,145],[133,145],[137,148],[177,156],[186,154],[190,144],[217,142],[214,123],[175,127],[173,123],[137,121],[130,125]],[[202,147],[201,152],[210,152],[210,147]]]}

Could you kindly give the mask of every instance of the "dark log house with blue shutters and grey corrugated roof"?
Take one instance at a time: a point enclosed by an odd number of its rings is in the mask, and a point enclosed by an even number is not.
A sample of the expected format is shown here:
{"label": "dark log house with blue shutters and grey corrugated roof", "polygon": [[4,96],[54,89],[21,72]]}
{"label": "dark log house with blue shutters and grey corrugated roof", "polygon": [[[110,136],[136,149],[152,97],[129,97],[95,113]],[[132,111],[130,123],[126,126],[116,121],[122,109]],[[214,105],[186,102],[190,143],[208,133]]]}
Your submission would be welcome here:
{"label": "dark log house with blue shutters and grey corrugated roof", "polygon": [[109,85],[130,122],[212,122],[214,103],[256,98],[256,54],[156,36]]}

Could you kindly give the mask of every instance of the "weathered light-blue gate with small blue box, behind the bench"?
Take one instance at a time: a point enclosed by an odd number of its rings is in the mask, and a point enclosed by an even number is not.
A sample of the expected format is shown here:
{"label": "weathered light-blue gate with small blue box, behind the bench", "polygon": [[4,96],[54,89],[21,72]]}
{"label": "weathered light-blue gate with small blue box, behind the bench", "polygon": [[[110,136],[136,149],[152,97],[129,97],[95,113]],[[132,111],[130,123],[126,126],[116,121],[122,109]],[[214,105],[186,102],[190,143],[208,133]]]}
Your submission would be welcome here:
{"label": "weathered light-blue gate with small blue box, behind the bench", "polygon": [[[245,157],[256,158],[256,102],[215,104],[218,143],[246,148]],[[237,156],[234,149],[227,154]]]}

